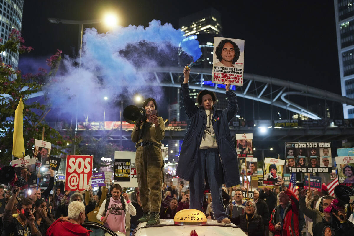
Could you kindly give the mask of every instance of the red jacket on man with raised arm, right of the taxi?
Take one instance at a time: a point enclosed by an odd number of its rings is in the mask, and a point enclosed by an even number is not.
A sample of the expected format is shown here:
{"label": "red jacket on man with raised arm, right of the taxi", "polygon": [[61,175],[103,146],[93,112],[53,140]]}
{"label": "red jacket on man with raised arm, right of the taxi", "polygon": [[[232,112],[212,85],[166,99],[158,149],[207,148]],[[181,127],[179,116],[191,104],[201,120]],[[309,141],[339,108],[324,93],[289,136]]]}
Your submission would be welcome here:
{"label": "red jacket on man with raised arm, right of the taxi", "polygon": [[274,236],[299,236],[299,200],[295,194],[289,189],[285,194],[290,197],[289,204],[285,207],[285,218],[283,228],[276,231],[274,226],[280,222],[280,208],[277,206],[273,209],[269,220],[269,231],[274,233]]}

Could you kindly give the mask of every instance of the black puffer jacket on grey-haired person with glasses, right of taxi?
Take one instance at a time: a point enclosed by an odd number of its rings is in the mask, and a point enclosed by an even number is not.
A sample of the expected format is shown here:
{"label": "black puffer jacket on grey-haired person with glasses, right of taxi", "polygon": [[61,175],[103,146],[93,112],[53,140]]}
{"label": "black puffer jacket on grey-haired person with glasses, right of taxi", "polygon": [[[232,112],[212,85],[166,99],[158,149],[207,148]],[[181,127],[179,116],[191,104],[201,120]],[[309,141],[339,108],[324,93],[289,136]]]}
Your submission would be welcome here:
{"label": "black puffer jacket on grey-haired person with glasses, right of taxi", "polygon": [[242,231],[247,232],[249,236],[264,235],[264,224],[260,215],[254,214],[252,216],[245,213],[230,220],[235,225],[240,225]]}

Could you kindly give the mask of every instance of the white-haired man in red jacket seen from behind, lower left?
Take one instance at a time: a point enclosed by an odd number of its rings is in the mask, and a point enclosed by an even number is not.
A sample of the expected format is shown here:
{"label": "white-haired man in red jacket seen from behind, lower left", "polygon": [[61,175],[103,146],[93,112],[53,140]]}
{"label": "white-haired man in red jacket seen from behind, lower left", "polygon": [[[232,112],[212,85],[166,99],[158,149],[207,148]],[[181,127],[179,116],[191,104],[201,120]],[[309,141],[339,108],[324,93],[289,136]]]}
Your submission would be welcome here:
{"label": "white-haired man in red jacket seen from behind, lower left", "polygon": [[73,201],[68,207],[68,217],[57,219],[47,230],[49,236],[89,236],[91,230],[81,226],[85,221],[85,205],[79,201]]}

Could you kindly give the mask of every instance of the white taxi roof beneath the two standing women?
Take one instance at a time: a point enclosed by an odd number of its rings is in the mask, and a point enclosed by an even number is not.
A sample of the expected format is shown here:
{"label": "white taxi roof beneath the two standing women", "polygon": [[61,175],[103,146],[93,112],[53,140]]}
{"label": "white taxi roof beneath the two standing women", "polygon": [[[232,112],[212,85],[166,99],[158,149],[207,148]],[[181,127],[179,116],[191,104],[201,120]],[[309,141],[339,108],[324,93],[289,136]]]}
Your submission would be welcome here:
{"label": "white taxi roof beneath the two standing women", "polygon": [[173,219],[165,219],[154,226],[146,226],[146,222],[140,223],[135,229],[133,236],[190,236],[190,231],[192,230],[195,230],[198,236],[246,235],[239,227],[232,223],[231,225],[225,225],[217,223],[216,220],[207,220],[206,225],[175,225]]}

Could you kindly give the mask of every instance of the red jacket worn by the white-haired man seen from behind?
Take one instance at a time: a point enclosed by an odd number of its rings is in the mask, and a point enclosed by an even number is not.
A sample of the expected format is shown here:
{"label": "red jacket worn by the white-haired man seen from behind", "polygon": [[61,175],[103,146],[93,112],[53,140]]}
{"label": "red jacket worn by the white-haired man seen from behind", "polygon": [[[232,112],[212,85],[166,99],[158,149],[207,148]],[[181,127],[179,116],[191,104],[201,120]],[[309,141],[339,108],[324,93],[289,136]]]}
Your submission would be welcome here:
{"label": "red jacket worn by the white-haired man seen from behind", "polygon": [[47,236],[90,236],[92,230],[87,230],[81,225],[73,224],[68,221],[60,221],[57,219],[49,228],[47,229]]}

